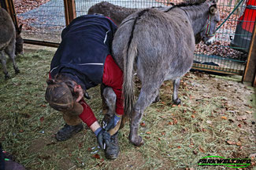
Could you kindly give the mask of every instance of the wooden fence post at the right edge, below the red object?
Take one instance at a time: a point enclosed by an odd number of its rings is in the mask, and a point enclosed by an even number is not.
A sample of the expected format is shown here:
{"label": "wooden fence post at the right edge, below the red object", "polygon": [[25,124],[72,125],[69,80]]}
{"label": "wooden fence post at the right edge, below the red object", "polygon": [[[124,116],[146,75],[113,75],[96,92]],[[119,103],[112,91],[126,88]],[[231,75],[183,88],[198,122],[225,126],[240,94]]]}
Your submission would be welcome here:
{"label": "wooden fence post at the right edge, below the red object", "polygon": [[250,39],[250,48],[248,52],[247,65],[243,74],[242,81],[251,82],[255,86],[256,74],[256,23],[254,24],[254,31]]}

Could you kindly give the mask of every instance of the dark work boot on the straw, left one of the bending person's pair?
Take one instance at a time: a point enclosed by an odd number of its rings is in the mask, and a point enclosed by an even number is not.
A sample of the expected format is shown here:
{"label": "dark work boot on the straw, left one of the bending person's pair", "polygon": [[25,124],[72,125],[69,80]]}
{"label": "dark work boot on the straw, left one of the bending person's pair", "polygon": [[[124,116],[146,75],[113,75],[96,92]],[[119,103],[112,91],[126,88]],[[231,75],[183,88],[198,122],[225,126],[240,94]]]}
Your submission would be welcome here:
{"label": "dark work boot on the straw, left one of the bending person's pair", "polygon": [[78,125],[67,125],[65,124],[63,128],[61,128],[55,138],[58,141],[65,141],[69,138],[71,138],[73,135],[75,135],[76,133],[80,132],[83,129],[83,124],[80,123]]}

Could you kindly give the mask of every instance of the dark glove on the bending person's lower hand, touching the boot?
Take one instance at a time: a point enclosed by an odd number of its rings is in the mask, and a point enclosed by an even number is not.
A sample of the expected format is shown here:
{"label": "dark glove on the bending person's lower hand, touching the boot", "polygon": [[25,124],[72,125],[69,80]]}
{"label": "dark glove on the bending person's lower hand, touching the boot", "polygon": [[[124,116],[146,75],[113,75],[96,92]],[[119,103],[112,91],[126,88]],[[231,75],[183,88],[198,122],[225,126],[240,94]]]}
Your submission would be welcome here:
{"label": "dark glove on the bending person's lower hand, touching the boot", "polygon": [[102,148],[102,150],[105,149],[104,143],[106,143],[106,146],[109,146],[109,143],[110,143],[109,132],[106,132],[106,130],[104,130],[103,128],[98,128],[95,131],[95,135],[97,136],[98,145]]}

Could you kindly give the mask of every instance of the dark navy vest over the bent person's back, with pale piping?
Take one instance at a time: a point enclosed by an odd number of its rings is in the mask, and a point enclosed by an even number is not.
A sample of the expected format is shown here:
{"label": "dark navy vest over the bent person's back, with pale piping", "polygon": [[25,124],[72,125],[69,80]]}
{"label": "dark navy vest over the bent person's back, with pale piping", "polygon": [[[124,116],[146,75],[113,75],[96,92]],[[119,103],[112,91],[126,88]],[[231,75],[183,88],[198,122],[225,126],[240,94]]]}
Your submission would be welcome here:
{"label": "dark navy vest over the bent person's back, with pale piping", "polygon": [[102,83],[116,30],[105,16],[85,15],[72,20],[61,33],[61,44],[50,63],[50,77],[69,74],[85,90]]}

